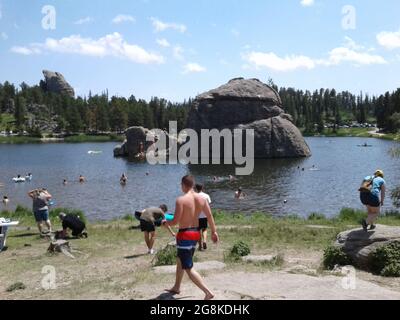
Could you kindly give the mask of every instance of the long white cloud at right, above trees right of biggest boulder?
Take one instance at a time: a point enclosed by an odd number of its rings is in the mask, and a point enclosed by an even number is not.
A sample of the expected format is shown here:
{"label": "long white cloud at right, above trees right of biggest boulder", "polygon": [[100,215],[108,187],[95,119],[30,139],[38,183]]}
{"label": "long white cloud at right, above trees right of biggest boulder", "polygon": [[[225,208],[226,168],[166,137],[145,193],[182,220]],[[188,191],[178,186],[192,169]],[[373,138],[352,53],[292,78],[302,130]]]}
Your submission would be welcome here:
{"label": "long white cloud at right, above trees right of biggest boulder", "polygon": [[317,66],[337,66],[349,63],[353,66],[386,64],[380,55],[371,54],[370,49],[357,45],[351,38],[345,38],[345,44],[332,49],[328,57],[314,59],[304,55],[280,57],[274,52],[252,51],[242,55],[246,65],[257,69],[267,68],[273,71],[288,72],[298,69],[315,69]]}

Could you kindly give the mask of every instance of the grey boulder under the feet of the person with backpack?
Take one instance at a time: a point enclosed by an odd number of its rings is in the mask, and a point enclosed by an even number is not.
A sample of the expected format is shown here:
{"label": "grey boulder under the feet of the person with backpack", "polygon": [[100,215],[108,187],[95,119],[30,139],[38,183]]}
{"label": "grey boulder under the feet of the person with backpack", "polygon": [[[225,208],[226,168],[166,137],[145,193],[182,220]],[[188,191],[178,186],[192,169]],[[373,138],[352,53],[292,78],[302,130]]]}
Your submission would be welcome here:
{"label": "grey boulder under the feet of the person with backpack", "polygon": [[352,259],[355,266],[370,270],[371,254],[380,246],[400,241],[400,227],[377,225],[373,231],[353,229],[340,233],[335,245]]}

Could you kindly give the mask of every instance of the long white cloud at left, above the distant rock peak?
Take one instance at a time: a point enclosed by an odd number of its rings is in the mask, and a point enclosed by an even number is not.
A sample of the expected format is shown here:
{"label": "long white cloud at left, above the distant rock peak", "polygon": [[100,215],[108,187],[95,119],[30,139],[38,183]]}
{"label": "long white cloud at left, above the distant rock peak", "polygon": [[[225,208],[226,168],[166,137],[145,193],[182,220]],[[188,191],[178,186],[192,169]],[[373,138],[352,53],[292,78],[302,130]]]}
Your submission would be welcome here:
{"label": "long white cloud at left, above the distant rock peak", "polygon": [[13,47],[11,51],[25,55],[45,51],[92,57],[111,56],[140,64],[164,62],[163,56],[126,42],[118,32],[99,39],[82,38],[80,35],[71,35],[59,40],[47,38],[44,43],[31,44],[29,47]]}

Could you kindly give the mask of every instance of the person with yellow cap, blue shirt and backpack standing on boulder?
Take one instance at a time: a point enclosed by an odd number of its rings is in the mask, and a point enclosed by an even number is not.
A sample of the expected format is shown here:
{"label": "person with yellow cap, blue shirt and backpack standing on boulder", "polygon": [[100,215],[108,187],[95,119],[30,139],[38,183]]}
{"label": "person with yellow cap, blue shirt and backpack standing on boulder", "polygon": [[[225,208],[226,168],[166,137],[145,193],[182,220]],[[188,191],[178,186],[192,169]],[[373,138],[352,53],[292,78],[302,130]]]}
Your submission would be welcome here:
{"label": "person with yellow cap, blue shirt and backpack standing on boulder", "polygon": [[369,190],[363,191],[360,189],[360,200],[367,207],[368,211],[368,218],[362,220],[364,231],[368,231],[368,226],[370,226],[370,230],[376,228],[374,223],[380,214],[381,207],[384,205],[386,194],[386,182],[383,178],[383,171],[377,170],[373,176],[364,178],[363,185],[367,182]]}

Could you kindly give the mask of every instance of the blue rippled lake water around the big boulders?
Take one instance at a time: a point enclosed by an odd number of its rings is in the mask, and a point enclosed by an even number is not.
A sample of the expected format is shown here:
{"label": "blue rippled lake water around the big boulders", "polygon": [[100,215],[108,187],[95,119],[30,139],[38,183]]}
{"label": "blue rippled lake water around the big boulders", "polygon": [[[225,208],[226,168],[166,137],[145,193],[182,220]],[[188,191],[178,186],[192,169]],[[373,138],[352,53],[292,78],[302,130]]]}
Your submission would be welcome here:
{"label": "blue rippled lake water around the big boulders", "polygon": [[[0,196],[10,198],[11,209],[16,204],[31,207],[27,192],[44,186],[57,207],[82,209],[91,220],[108,220],[162,203],[172,211],[175,198],[181,194],[180,179],[191,173],[205,184],[213,208],[279,216],[308,216],[312,212],[333,216],[343,207],[362,208],[357,189],[362,178],[377,168],[385,171],[388,193],[400,184],[400,161],[388,154],[390,148],[399,146],[396,142],[365,138],[306,140],[313,152],[311,158],[257,161],[253,175],[238,177],[234,182],[227,179],[234,174],[232,166],[151,166],[115,159],[115,143],[0,145],[0,183],[5,184],[0,187]],[[365,142],[372,147],[358,147]],[[102,153],[88,154],[91,150]],[[312,170],[313,166],[318,170]],[[31,182],[12,182],[14,176],[28,172],[33,174]],[[123,172],[129,178],[125,187],[119,184]],[[87,183],[77,182],[80,174]],[[213,182],[213,176],[221,177],[220,181]],[[69,181],[66,186],[64,178]],[[234,200],[238,187],[243,188],[246,199]],[[385,210],[393,209],[389,198]]]}

